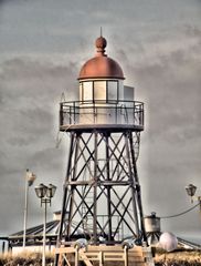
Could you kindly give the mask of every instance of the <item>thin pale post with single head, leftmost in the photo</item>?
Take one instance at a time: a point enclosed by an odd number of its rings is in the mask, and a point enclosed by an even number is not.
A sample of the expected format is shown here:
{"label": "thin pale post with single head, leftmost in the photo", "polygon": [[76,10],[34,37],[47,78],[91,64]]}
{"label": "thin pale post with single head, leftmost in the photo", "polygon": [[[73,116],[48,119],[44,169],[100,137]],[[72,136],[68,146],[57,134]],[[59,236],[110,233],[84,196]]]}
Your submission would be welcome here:
{"label": "thin pale post with single head, leftmost in the photo", "polygon": [[27,170],[25,173],[25,204],[24,204],[24,222],[23,222],[23,248],[25,248],[25,235],[27,235],[27,224],[28,224],[28,195],[29,195],[29,187],[33,184],[36,176]]}

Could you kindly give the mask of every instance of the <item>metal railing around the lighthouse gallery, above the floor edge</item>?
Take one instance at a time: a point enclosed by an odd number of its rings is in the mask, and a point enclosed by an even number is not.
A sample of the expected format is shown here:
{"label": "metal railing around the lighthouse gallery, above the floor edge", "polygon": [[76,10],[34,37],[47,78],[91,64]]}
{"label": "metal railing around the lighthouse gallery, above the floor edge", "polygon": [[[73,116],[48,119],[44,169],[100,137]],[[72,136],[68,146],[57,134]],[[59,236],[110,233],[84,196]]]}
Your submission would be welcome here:
{"label": "metal railing around the lighthouse gallery, above the floor edge", "polygon": [[60,126],[124,124],[144,126],[144,103],[138,101],[72,101],[60,103]]}

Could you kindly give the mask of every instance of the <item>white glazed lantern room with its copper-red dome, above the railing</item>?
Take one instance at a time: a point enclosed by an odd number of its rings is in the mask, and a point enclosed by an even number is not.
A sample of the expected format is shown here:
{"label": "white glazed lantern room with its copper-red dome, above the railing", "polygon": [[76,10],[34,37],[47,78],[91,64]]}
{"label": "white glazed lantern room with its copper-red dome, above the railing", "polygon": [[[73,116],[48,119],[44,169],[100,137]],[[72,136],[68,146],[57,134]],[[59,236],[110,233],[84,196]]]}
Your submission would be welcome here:
{"label": "white glazed lantern room with its copper-red dome, above the railing", "polygon": [[80,101],[118,102],[125,100],[127,94],[129,100],[130,94],[134,100],[134,88],[124,88],[125,78],[120,65],[105,53],[106,39],[100,35],[95,45],[95,57],[89,59],[80,72]]}

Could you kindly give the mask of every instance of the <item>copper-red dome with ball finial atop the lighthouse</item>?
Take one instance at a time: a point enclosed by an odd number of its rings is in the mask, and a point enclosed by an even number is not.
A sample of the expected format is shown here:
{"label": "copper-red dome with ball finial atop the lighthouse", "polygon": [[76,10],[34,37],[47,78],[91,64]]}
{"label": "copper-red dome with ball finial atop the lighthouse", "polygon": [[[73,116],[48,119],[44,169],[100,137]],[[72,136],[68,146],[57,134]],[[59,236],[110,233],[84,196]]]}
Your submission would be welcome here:
{"label": "copper-red dome with ball finial atop the lighthouse", "polygon": [[120,65],[105,54],[105,48],[107,45],[106,39],[99,37],[95,44],[97,53],[82,66],[78,80],[98,78],[124,80],[125,78]]}

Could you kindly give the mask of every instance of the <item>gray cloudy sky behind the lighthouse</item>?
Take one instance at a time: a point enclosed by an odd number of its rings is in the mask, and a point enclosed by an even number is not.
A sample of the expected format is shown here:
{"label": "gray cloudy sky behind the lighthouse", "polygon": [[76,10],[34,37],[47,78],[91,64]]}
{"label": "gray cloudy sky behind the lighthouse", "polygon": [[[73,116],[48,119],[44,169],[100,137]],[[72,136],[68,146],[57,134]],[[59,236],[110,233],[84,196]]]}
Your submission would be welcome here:
{"label": "gray cloudy sky behind the lighthouse", "polygon": [[[138,161],[145,214],[192,206],[184,186],[201,186],[201,1],[0,0],[0,235],[23,227],[27,168],[35,184],[57,186],[49,218],[61,208],[67,136],[56,147],[59,102],[63,92],[76,96],[100,27],[107,54],[146,104]],[[161,222],[163,231],[200,241],[198,208]],[[28,226],[39,223],[30,187]]]}

